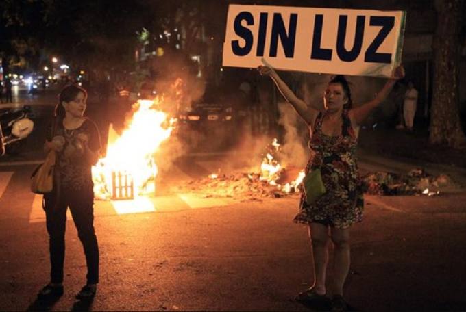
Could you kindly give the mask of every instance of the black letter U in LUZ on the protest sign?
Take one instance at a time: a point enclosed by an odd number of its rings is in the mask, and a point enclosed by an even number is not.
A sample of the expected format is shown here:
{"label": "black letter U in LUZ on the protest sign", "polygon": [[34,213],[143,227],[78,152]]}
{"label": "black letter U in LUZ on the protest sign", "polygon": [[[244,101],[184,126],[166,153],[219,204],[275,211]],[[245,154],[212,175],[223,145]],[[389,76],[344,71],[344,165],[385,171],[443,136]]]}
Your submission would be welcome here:
{"label": "black letter U in LUZ on the protest sign", "polygon": [[354,36],[353,48],[350,51],[345,49],[345,38],[348,16],[341,15],[338,22],[338,36],[336,37],[336,53],[343,62],[352,62],[358,58],[363,47],[365,16],[358,16],[356,19],[356,35]]}

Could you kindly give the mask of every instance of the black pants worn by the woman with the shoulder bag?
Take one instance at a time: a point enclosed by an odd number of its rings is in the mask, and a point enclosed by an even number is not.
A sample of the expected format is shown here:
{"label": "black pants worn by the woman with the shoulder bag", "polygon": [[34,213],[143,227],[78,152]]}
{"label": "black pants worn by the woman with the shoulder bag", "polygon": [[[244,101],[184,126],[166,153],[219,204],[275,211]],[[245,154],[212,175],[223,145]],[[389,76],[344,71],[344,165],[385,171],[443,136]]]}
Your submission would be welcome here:
{"label": "black pants worn by the woman with the shoulder bag", "polygon": [[63,282],[64,232],[66,229],[66,209],[73,216],[77,235],[84,247],[87,263],[87,283],[99,282],[99,246],[94,231],[94,193],[92,187],[86,190],[60,191],[44,195],[44,210],[49,233],[49,251],[51,263],[51,282]]}

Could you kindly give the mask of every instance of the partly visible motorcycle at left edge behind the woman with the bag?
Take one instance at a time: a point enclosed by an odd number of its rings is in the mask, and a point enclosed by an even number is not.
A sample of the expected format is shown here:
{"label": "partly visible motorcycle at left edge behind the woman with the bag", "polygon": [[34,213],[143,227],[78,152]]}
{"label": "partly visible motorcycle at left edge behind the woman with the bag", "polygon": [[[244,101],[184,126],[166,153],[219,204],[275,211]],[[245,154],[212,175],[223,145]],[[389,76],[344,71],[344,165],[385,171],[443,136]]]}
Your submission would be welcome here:
{"label": "partly visible motorcycle at left edge behind the woman with the bag", "polygon": [[34,122],[28,118],[31,107],[25,105],[19,110],[0,114],[0,156],[18,154],[25,138],[32,133]]}

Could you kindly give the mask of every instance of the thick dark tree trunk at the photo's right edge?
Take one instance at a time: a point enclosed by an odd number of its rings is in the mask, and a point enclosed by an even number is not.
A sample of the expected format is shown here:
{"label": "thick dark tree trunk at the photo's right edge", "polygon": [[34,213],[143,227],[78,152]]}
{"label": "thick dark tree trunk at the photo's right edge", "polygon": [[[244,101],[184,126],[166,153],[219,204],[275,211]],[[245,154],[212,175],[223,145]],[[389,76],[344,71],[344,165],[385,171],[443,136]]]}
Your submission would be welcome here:
{"label": "thick dark tree trunk at the photo's right edge", "polygon": [[459,114],[459,61],[462,0],[435,1],[437,29],[434,34],[434,90],[430,115],[431,144],[465,146]]}

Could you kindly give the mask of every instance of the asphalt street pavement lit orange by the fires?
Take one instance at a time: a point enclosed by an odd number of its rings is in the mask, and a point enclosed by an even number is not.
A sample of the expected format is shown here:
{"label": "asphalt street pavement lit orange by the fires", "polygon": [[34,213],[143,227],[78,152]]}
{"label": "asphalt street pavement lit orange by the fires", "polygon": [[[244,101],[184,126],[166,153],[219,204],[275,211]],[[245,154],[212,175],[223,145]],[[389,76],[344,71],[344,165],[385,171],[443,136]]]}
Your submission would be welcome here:
{"label": "asphalt street pavement lit orange by the fires", "polygon": [[[361,156],[363,172],[429,165]],[[34,157],[0,161],[4,311],[45,309],[34,301],[49,274],[41,196],[29,192],[29,174],[40,160]],[[49,309],[315,311],[292,300],[312,281],[306,228],[291,222],[296,195],[243,200],[168,191],[179,181],[205,177],[222,159],[213,153],[186,157],[164,172],[156,196],[137,205],[96,201],[101,281],[89,304],[74,299],[84,285],[86,264],[69,216],[65,294]],[[461,169],[448,172],[463,181]],[[345,286],[352,310],[466,311],[466,190],[458,185],[440,196],[365,196],[364,220],[352,229]]]}

